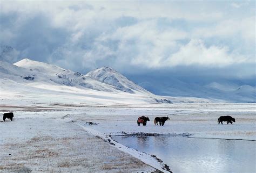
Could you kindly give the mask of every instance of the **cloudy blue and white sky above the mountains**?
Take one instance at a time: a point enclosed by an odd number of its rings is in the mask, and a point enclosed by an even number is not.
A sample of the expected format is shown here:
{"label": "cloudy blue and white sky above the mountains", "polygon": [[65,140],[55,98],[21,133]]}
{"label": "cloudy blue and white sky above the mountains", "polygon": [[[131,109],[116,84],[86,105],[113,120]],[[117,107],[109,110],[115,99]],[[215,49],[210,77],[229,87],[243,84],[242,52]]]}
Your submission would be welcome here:
{"label": "cloudy blue and white sky above the mountains", "polygon": [[13,47],[16,60],[80,73],[109,66],[135,82],[150,75],[157,82],[256,76],[255,1],[0,0],[0,6],[0,44]]}

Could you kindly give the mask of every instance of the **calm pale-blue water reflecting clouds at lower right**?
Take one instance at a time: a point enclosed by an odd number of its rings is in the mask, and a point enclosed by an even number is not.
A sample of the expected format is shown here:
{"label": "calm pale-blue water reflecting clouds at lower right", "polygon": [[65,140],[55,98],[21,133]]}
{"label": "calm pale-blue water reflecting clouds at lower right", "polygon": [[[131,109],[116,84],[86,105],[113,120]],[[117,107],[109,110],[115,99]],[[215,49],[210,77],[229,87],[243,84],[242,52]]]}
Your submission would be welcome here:
{"label": "calm pale-blue water reflecting clouds at lower right", "polygon": [[123,145],[157,155],[173,172],[256,172],[256,142],[182,136],[112,136]]}

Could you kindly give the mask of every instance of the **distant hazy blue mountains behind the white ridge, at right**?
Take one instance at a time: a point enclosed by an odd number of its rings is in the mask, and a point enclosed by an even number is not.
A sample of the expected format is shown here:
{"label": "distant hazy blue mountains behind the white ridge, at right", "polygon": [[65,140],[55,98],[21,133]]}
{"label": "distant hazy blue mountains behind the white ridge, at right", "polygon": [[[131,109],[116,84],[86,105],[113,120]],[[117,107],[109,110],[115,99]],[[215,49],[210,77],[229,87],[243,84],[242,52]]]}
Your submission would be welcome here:
{"label": "distant hazy blue mountains behind the white ridge, at right", "polygon": [[160,80],[161,82],[157,82],[156,78],[144,77],[144,81],[138,84],[146,90],[162,96],[197,97],[230,103],[256,103],[255,85],[248,85],[241,81],[216,80],[215,82],[199,83],[175,77]]}

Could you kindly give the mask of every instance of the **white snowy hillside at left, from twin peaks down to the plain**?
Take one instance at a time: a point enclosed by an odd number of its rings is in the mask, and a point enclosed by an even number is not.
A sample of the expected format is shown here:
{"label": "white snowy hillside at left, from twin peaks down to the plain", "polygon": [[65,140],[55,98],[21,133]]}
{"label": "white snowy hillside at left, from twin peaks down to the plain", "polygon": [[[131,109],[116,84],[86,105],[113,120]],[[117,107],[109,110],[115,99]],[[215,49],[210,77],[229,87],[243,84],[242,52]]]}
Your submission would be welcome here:
{"label": "white snowy hillside at left, from twin peaks down to the plain", "polygon": [[[1,61],[1,93],[2,96],[6,93],[14,95],[12,91],[15,91],[21,96],[30,94],[33,98],[44,100],[48,95],[51,102],[71,99],[72,102],[90,104],[172,103],[167,98],[153,95],[109,67],[101,69],[100,74],[105,78],[103,81],[99,76],[95,77],[95,70],[84,75],[29,59],[14,64]],[[62,96],[57,98],[56,95]]]}

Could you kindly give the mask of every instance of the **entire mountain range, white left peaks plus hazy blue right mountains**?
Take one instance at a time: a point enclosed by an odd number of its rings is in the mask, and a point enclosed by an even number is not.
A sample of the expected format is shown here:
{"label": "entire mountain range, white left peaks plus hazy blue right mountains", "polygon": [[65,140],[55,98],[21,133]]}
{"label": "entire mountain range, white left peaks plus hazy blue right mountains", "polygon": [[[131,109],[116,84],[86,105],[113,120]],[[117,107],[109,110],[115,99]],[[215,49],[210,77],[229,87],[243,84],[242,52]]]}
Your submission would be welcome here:
{"label": "entire mountain range, white left peaks plus hazy blue right mountains", "polygon": [[17,59],[16,54],[17,51],[14,48],[1,46],[0,79],[7,78],[36,88],[42,88],[47,84],[49,86],[71,86],[119,94],[129,93],[131,97],[135,95],[146,97],[145,103],[172,103],[173,100],[182,103],[256,103],[255,85],[251,86],[241,82],[226,80],[197,84],[171,76],[164,79],[140,76],[138,80],[133,78],[134,81],[137,81],[135,84],[111,67],[102,67],[82,74],[53,64],[29,59],[23,59],[12,64]]}

